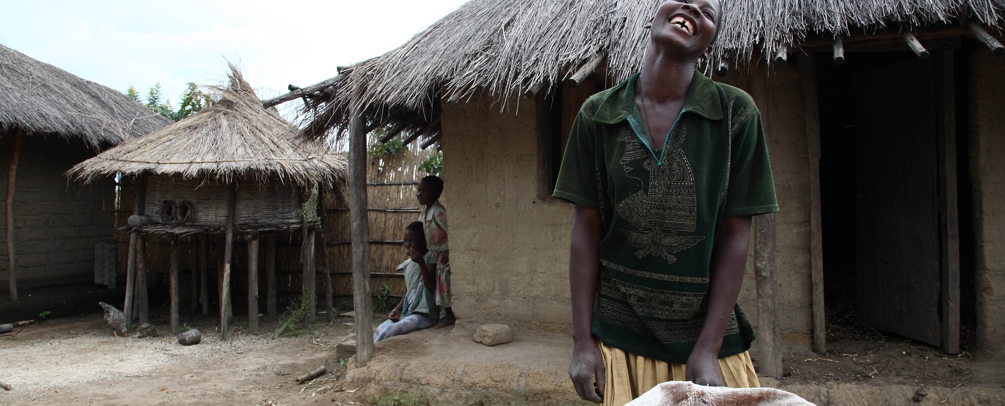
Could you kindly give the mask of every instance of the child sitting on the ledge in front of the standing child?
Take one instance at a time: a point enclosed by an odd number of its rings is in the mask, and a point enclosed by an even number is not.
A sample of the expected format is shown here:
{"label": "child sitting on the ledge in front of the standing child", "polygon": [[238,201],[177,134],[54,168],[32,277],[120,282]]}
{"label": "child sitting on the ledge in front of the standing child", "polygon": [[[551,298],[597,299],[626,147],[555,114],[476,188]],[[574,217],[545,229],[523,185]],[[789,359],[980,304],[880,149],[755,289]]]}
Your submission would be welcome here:
{"label": "child sitting on the ledge in front of the standing child", "polygon": [[408,259],[398,265],[405,273],[405,295],[387,315],[387,321],[374,330],[374,343],[388,337],[408,334],[433,327],[439,320],[436,307],[436,256],[426,247],[422,223],[415,221],[405,227],[405,251]]}

